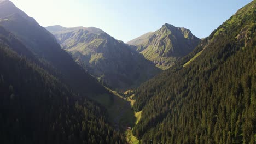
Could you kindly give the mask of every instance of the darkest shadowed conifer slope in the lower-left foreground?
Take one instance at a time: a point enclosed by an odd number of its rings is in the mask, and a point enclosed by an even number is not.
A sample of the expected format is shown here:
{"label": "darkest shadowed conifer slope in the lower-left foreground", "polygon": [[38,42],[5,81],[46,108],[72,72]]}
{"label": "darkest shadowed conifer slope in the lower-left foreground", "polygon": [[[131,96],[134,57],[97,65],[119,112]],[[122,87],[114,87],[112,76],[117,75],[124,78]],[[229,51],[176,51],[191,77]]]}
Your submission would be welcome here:
{"label": "darkest shadowed conifer slope in the lower-left foreground", "polygon": [[[18,55],[3,35],[1,31],[1,143],[125,143],[107,123],[105,110]],[[28,51],[24,46],[19,50]]]}

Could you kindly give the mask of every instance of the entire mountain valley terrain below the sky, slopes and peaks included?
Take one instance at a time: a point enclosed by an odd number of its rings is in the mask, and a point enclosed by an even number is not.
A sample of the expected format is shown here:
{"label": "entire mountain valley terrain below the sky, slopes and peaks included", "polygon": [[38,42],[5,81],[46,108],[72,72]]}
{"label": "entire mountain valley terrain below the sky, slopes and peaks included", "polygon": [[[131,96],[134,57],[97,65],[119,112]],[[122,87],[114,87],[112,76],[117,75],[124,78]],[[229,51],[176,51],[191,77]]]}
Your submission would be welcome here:
{"label": "entire mountain valley terrain below the sky, slopes and peaks included", "polygon": [[204,39],[166,23],[125,44],[0,0],[1,143],[255,144],[255,7]]}

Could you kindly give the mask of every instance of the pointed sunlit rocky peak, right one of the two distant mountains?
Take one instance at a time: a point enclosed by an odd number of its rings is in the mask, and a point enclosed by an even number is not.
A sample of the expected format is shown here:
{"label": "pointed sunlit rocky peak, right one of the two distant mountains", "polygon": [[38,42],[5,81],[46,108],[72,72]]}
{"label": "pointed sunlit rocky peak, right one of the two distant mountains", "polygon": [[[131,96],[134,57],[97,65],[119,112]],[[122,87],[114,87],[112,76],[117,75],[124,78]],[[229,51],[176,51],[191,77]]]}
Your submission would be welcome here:
{"label": "pointed sunlit rocky peak, right one of the two distant mountains", "polygon": [[133,45],[133,49],[154,62],[156,67],[166,70],[193,51],[200,41],[189,29],[165,23],[158,31],[146,33],[126,44]]}

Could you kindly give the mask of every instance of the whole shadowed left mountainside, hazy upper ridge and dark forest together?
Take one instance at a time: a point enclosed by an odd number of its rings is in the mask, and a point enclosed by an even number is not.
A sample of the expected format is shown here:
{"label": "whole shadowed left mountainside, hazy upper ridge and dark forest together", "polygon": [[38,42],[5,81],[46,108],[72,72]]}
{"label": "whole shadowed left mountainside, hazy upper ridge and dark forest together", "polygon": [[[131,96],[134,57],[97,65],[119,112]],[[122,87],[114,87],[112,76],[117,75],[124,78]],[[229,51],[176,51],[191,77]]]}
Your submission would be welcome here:
{"label": "whole shadowed left mountainside, hazy upper ridge and dark forest together", "polygon": [[125,143],[89,100],[113,94],[13,3],[1,0],[0,15],[1,143]]}

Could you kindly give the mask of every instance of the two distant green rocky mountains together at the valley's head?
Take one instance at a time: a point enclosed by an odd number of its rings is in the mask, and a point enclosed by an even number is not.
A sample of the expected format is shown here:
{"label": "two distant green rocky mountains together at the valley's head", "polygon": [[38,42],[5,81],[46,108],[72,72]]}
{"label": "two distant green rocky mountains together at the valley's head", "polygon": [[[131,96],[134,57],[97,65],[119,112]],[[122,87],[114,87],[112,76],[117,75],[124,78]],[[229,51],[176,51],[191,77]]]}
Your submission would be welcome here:
{"label": "two distant green rocky mountains together at the valley's head", "polygon": [[168,24],[128,42],[129,45],[95,27],[57,25],[46,29],[89,74],[114,89],[139,86],[161,69],[170,68],[200,41],[188,29]]}

